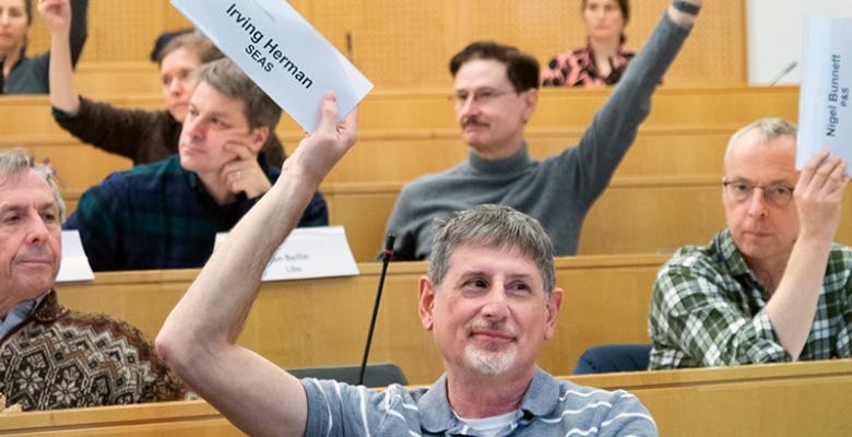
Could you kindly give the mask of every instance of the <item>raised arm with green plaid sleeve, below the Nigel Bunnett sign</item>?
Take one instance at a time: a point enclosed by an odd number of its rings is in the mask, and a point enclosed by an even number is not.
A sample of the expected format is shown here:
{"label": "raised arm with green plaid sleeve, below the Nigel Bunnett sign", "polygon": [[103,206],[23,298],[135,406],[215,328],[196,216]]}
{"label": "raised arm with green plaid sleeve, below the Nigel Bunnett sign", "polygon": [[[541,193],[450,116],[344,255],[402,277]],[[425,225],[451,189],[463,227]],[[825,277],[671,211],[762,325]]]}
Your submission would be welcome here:
{"label": "raised arm with green plaid sleeve, below the Nigel Bunnett sign", "polygon": [[725,274],[703,261],[678,261],[660,271],[650,317],[655,345],[652,365],[676,365],[672,358],[681,352],[686,355],[684,366],[798,359],[814,329],[826,265],[840,224],[845,170],[845,162],[828,158],[827,153],[815,156],[803,169],[794,190],[798,238],[778,288],[757,314],[753,315],[753,309],[736,297],[733,280],[725,280]]}

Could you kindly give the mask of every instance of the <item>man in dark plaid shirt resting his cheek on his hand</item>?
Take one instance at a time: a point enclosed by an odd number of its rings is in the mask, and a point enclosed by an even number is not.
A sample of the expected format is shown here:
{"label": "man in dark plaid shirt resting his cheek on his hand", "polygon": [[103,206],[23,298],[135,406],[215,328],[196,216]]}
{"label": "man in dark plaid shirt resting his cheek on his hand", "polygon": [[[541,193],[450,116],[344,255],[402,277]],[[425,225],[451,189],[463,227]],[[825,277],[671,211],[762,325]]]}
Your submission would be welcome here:
{"label": "man in dark plaid shirt resting his cheek on his hand", "polygon": [[[80,199],[66,223],[80,229],[92,269],[201,267],[280,174],[258,156],[281,108],[233,61],[201,67],[178,155],[115,173]],[[328,224],[317,192],[299,226]]]}

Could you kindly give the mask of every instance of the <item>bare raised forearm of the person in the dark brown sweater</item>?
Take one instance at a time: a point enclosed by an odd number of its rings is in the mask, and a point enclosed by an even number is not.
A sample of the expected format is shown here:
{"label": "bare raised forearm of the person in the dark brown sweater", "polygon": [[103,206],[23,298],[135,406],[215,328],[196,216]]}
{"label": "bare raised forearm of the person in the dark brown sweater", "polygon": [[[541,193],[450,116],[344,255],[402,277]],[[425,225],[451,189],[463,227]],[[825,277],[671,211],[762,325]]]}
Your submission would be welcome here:
{"label": "bare raised forearm of the person in the dark brown sweater", "polygon": [[76,115],[80,110],[80,97],[74,88],[74,72],[71,69],[71,46],[67,31],[55,31],[50,36],[50,105],[55,108]]}

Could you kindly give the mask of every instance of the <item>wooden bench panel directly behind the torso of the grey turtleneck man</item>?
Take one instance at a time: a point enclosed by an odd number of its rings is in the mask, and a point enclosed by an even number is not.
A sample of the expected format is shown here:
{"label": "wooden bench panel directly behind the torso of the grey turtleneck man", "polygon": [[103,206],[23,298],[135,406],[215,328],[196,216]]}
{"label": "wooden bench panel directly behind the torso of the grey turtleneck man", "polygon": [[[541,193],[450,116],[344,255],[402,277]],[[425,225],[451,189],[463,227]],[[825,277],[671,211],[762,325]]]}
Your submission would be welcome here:
{"label": "wooden bench panel directly behind the torso of the grey turtleneck man", "polygon": [[[720,176],[616,177],[592,205],[580,233],[578,255],[671,252],[706,245],[725,226]],[[343,225],[355,259],[376,259],[400,184],[330,184],[320,190],[331,224]],[[80,192],[64,192],[69,211]],[[843,222],[852,223],[852,190]],[[852,226],[841,224],[837,241],[852,245]]]}

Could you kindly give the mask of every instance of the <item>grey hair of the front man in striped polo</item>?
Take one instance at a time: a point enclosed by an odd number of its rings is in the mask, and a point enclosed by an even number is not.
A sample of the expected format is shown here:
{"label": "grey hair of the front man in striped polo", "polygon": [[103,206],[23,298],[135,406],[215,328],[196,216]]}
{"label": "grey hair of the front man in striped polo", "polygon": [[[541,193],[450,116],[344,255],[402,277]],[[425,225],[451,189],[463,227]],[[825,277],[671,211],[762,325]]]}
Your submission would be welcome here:
{"label": "grey hair of the front man in striped polo", "polygon": [[429,279],[440,285],[453,251],[462,245],[516,248],[539,267],[547,297],[556,287],[553,244],[537,220],[509,206],[483,204],[435,220]]}

